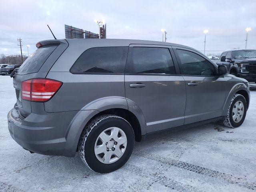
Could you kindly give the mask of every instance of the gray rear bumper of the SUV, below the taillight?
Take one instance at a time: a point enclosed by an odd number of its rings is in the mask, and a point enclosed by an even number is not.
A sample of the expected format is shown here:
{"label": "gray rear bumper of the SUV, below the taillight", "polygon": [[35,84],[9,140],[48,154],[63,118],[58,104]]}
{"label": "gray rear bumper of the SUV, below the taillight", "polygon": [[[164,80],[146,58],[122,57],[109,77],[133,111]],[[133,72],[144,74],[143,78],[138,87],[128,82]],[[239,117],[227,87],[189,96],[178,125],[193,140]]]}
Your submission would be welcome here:
{"label": "gray rear bumper of the SUV, below the taillight", "polygon": [[66,137],[69,124],[76,113],[32,113],[23,118],[18,106],[14,106],[8,113],[8,129],[12,138],[26,150],[44,155],[72,157],[76,148],[66,145]]}

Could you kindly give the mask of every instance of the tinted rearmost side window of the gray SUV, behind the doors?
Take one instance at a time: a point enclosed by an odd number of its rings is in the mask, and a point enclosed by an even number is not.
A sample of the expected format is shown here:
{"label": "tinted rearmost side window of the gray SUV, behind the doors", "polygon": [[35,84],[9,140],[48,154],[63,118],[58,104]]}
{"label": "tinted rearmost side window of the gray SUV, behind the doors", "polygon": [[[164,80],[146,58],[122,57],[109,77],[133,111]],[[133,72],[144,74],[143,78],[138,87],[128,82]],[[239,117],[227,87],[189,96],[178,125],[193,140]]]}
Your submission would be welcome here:
{"label": "tinted rearmost side window of the gray SUV, behind the doors", "polygon": [[71,67],[73,74],[124,73],[128,47],[94,47],[86,50]]}

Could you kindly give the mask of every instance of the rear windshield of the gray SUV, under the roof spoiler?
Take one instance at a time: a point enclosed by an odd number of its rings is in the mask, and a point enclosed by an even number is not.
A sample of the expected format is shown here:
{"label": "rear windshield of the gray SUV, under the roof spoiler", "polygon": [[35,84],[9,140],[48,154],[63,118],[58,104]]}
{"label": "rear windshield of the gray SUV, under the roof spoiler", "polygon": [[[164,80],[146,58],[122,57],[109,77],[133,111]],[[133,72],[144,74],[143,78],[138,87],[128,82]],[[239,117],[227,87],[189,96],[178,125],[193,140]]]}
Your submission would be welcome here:
{"label": "rear windshield of the gray SUV, under the roof spoiler", "polygon": [[50,54],[52,54],[57,46],[58,45],[48,45],[38,48],[24,61],[17,74],[24,75],[38,72],[46,59],[50,56]]}

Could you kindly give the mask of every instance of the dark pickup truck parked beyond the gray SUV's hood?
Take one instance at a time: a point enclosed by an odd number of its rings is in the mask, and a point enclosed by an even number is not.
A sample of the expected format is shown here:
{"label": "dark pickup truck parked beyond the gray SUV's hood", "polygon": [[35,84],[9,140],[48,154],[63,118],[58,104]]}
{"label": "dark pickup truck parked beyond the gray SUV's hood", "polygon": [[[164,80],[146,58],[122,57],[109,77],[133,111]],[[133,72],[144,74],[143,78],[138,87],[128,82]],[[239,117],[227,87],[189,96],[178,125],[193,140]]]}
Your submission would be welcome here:
{"label": "dark pickup truck parked beyond the gray SUV's hood", "polygon": [[256,82],[256,50],[237,49],[225,51],[221,54],[218,65],[225,65],[228,73],[244,78],[249,82]]}

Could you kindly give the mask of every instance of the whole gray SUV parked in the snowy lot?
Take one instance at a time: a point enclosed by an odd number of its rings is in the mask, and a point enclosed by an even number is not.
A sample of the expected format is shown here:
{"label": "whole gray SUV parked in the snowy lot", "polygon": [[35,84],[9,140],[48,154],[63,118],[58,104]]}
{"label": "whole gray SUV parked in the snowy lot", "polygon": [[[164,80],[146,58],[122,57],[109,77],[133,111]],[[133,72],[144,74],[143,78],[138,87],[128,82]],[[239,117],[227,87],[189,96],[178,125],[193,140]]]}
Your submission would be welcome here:
{"label": "whole gray SUV parked in the snowy lot", "polygon": [[18,69],[8,113],[24,149],[74,157],[95,172],[123,166],[148,134],[222,121],[238,127],[248,82],[193,48],[118,39],[45,40]]}

